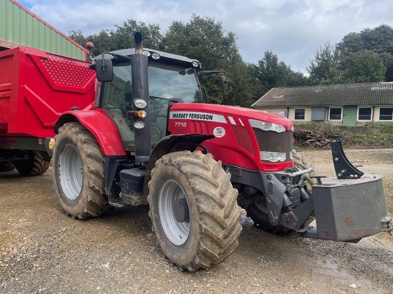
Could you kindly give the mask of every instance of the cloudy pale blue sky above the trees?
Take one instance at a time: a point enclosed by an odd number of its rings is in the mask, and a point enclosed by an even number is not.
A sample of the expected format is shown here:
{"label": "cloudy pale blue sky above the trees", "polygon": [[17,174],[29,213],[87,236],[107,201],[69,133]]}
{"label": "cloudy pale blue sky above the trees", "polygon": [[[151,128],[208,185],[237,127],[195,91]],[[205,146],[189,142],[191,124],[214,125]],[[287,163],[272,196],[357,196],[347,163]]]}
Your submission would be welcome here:
{"label": "cloudy pale blue sky above the trees", "polygon": [[191,14],[209,15],[235,32],[243,58],[255,62],[273,50],[292,69],[306,72],[315,50],[351,31],[393,25],[391,0],[22,0],[23,5],[64,33],[85,34],[132,18],[159,24]]}

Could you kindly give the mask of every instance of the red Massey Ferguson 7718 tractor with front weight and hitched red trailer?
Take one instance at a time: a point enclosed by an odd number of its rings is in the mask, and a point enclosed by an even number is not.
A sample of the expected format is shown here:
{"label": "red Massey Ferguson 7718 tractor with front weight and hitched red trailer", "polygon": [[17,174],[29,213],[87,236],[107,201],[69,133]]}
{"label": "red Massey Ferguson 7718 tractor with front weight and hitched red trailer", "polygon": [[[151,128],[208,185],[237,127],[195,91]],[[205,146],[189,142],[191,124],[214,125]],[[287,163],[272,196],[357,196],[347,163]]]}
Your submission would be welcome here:
{"label": "red Massey Ferguson 7718 tractor with front weight and hitched red trailer", "polygon": [[135,49],[92,64],[0,52],[3,170],[40,174],[52,157],[58,201],[75,219],[148,204],[158,244],[180,270],[210,268],[235,250],[241,208],[277,234],[356,243],[392,229],[382,177],[353,166],[340,138],[337,178],[315,175],[293,150],[290,120],[202,103],[198,76],[223,72],[134,39]]}

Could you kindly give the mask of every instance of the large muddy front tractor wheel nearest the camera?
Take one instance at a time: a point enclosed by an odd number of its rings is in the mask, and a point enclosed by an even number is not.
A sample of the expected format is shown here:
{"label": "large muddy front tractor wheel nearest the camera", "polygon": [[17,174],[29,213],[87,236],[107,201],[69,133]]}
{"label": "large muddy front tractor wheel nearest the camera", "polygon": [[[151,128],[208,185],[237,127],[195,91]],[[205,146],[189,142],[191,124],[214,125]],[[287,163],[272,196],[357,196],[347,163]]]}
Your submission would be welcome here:
{"label": "large muddy front tractor wheel nearest the camera", "polygon": [[[242,231],[237,190],[230,173],[210,153],[164,155],[151,171],[149,191],[152,230],[164,255],[179,270],[208,269],[236,249]],[[186,211],[180,220],[175,216],[179,199]]]}

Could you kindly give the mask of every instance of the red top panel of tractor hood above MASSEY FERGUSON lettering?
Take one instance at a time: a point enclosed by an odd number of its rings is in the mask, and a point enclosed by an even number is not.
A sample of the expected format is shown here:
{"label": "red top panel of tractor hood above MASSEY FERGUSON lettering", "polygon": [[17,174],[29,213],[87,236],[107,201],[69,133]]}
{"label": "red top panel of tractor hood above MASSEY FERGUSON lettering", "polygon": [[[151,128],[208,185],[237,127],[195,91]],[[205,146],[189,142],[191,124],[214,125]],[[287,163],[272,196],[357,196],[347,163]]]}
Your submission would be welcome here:
{"label": "red top panel of tractor hood above MASSEY FERGUSON lettering", "polygon": [[261,110],[244,108],[239,106],[228,106],[219,104],[202,104],[202,103],[176,103],[170,108],[170,111],[192,111],[192,112],[203,112],[219,114],[224,116],[234,116],[244,119],[253,119],[268,123],[277,123],[283,125],[287,130],[289,130],[293,123],[291,120],[269,112],[264,112]]}

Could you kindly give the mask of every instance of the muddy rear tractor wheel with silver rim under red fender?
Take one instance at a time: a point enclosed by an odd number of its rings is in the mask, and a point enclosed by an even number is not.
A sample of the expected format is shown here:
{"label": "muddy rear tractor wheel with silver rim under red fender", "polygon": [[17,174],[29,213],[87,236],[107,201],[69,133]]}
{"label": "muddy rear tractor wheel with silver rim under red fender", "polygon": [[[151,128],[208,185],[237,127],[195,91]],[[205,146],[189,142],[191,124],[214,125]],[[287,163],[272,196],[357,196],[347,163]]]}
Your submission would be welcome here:
{"label": "muddy rear tractor wheel with silver rim under red fender", "polygon": [[87,219],[110,211],[104,155],[95,137],[81,123],[65,123],[55,142],[53,183],[66,215]]}

